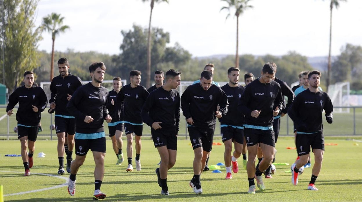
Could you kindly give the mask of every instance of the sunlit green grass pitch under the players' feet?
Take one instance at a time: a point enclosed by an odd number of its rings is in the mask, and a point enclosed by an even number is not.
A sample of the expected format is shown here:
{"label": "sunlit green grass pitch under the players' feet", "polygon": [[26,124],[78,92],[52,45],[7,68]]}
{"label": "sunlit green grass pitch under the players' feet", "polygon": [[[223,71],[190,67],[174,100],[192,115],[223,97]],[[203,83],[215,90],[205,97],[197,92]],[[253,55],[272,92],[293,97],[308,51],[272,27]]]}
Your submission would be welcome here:
{"label": "sunlit green grass pitch under the players' feet", "polygon": [[[221,142],[215,138],[214,142]],[[295,150],[286,147],[294,146],[293,138],[279,138],[276,149],[277,161],[292,164],[296,158]],[[203,172],[201,182],[203,194],[196,195],[189,187],[193,176],[193,150],[189,140],[178,140],[176,165],[169,171],[168,187],[171,195],[160,195],[161,188],[157,185],[155,174],[156,164],[160,158],[150,138],[142,141],[140,160],[142,170],[127,173],[126,164],[114,165],[116,156],[107,137],[107,155],[105,157],[105,177],[101,190],[107,194],[106,201],[362,201],[362,143],[346,140],[346,138],[327,137],[326,143],[337,143],[337,146],[325,146],[323,167],[316,187],[319,191],[306,190],[311,178],[311,168],[305,169],[299,177],[298,186],[291,184],[291,174],[285,171],[290,166],[276,166],[273,179],[264,179],[265,191],[257,189],[256,194],[246,194],[248,181],[246,171],[242,168],[234,174],[233,179],[225,180],[223,173]],[[359,143],[360,146],[354,145]],[[35,154],[44,152],[46,158],[34,158],[31,176],[24,177],[21,157],[4,157],[5,154],[20,154],[19,141],[0,141],[0,184],[4,185],[4,194],[13,194],[49,188],[66,182],[54,176],[34,173],[56,174],[58,156],[56,141],[40,140],[36,142]],[[214,146],[209,165],[223,162],[224,146]],[[66,186],[42,192],[5,196],[5,201],[84,201],[90,200],[94,191],[94,162],[88,153],[84,165],[77,174],[76,195],[71,197]],[[312,155],[312,165],[313,165]],[[241,161],[240,161],[241,164]],[[6,171],[6,172],[4,172]],[[67,178],[68,174],[63,177]]]}

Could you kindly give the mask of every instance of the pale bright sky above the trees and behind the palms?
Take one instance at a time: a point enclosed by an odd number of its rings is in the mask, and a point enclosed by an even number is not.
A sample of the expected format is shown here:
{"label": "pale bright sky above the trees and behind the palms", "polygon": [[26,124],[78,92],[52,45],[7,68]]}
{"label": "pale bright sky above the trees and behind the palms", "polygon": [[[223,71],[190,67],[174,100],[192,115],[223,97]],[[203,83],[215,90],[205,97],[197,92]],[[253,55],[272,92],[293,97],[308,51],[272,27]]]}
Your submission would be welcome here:
{"label": "pale bright sky above the trees and behind the palms", "polygon": [[[252,0],[252,9],[239,17],[239,54],[327,56],[329,46],[329,0]],[[220,11],[220,0],[169,0],[156,3],[152,27],[170,33],[194,57],[235,55],[236,17]],[[346,43],[362,45],[361,0],[342,1],[332,12],[332,55]],[[119,54],[121,30],[132,25],[148,28],[150,1],[142,0],[40,0],[35,25],[55,12],[70,30],[55,39],[55,50],[97,51]],[[51,34],[44,32],[39,50],[51,52]]]}

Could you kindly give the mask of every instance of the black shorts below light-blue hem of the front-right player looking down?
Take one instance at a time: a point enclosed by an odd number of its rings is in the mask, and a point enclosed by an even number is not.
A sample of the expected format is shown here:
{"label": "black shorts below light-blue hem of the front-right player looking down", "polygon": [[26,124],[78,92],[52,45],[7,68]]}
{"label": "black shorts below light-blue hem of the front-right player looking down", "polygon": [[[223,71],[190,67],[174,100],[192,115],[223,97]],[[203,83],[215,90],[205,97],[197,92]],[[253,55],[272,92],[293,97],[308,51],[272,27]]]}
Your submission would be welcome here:
{"label": "black shorts below light-blue hem of the front-right player looking down", "polygon": [[262,130],[244,126],[244,135],[248,147],[256,145],[257,143],[264,143],[275,147],[274,130],[272,129]]}

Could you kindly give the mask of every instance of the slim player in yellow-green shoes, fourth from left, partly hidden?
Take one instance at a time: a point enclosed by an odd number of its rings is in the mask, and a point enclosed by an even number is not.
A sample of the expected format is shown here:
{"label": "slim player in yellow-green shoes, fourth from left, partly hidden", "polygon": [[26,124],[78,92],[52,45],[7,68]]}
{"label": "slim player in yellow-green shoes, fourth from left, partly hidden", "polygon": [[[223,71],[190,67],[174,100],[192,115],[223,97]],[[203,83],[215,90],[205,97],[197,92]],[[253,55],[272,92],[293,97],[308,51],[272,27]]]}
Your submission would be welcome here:
{"label": "slim player in yellow-green shoes, fourth from left, partly hidden", "polygon": [[108,130],[109,130],[109,137],[111,137],[112,140],[112,147],[114,153],[117,156],[116,165],[121,165],[123,163],[122,135],[125,125],[123,123],[123,118],[119,117],[115,107],[115,103],[117,102],[117,95],[122,87],[121,78],[114,77],[112,85],[113,85],[113,90],[108,92],[108,103],[107,103],[108,113],[112,117],[111,123],[108,123]]}

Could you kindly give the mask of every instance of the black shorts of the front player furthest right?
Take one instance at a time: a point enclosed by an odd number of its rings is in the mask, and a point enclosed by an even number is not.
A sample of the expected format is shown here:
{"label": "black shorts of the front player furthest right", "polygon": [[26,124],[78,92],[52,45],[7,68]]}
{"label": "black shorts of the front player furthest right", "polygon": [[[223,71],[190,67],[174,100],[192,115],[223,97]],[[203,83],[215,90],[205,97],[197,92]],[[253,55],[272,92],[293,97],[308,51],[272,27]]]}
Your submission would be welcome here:
{"label": "black shorts of the front player furthest right", "polygon": [[312,134],[300,134],[297,132],[296,138],[296,152],[298,156],[309,154],[313,149],[321,149],[324,151],[324,135],[323,132]]}

